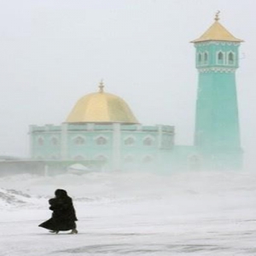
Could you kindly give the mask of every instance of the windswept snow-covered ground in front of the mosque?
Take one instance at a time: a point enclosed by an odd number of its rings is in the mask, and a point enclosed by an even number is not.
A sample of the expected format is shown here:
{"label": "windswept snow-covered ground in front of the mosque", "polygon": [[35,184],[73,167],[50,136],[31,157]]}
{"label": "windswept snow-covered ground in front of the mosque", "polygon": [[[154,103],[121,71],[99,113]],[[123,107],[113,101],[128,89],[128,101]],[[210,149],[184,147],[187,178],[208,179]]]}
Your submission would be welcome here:
{"label": "windswept snow-covered ground in front of the mosque", "polygon": [[[256,173],[0,177],[0,255],[256,255]],[[48,199],[67,189],[78,235],[50,234]]]}

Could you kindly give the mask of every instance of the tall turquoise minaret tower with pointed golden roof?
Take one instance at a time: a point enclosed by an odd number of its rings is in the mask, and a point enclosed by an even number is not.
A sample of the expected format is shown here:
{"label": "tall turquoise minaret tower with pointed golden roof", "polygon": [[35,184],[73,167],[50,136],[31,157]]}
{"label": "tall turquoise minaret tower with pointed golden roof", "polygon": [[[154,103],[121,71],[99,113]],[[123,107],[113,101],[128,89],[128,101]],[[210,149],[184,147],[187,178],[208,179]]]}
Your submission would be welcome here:
{"label": "tall turquoise minaret tower with pointed golden roof", "polygon": [[236,69],[242,42],[215,21],[196,49],[199,72],[195,114],[195,147],[205,169],[237,170],[242,165]]}

